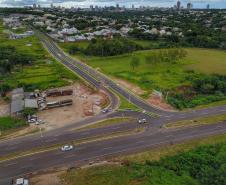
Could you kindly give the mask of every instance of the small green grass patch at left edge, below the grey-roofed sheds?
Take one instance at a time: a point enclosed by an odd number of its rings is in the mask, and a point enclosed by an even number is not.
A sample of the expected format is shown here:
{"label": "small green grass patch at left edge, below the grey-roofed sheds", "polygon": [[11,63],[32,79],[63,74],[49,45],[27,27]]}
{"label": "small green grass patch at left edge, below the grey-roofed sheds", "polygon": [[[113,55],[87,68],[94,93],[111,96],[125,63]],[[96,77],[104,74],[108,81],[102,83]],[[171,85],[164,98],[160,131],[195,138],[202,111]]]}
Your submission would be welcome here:
{"label": "small green grass patch at left edge, below the grey-roofed sheds", "polygon": [[0,131],[6,131],[26,126],[27,123],[23,119],[13,117],[0,117]]}

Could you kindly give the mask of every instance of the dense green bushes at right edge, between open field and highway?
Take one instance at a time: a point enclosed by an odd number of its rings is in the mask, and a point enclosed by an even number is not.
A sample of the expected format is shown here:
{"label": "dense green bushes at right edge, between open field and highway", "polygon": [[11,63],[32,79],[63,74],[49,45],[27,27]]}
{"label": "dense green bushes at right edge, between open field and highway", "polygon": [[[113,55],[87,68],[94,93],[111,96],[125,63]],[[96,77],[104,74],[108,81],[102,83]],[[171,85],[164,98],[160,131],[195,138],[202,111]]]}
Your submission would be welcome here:
{"label": "dense green bushes at right edge, between open field and highway", "polygon": [[191,85],[171,91],[169,103],[182,109],[226,99],[226,76],[193,74]]}

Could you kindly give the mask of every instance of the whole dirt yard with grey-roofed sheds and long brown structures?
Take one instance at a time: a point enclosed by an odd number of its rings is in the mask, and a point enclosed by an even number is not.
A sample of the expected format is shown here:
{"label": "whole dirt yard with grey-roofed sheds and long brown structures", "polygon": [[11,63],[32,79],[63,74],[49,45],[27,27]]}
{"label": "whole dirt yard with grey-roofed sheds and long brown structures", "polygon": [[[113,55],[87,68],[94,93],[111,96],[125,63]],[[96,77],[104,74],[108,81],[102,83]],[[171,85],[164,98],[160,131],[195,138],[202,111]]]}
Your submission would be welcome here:
{"label": "whole dirt yard with grey-roofed sheds and long brown structures", "polygon": [[98,114],[108,103],[104,92],[93,91],[80,83],[34,92],[18,88],[11,92],[10,113],[20,116],[26,108],[35,109],[36,114],[27,121],[31,125],[45,123],[42,127],[49,130]]}

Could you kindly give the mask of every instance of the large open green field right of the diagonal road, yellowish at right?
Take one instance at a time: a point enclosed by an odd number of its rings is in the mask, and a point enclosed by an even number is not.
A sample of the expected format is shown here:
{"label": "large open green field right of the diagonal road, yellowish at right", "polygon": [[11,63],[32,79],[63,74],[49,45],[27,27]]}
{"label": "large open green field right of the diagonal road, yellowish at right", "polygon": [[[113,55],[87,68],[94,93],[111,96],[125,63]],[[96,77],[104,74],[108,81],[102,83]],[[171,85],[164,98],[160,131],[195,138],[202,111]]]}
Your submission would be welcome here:
{"label": "large open green field right of the diagonal road, yellowish at right", "polygon": [[[191,75],[187,71],[191,70],[206,74],[226,74],[226,52],[199,48],[186,50],[187,57],[176,64],[146,64],[145,56],[152,51],[137,51],[114,57],[84,55],[76,55],[76,57],[105,74],[127,80],[146,91],[172,89],[189,84],[186,78]],[[134,56],[140,59],[140,66],[135,70],[130,66],[130,61]]]}

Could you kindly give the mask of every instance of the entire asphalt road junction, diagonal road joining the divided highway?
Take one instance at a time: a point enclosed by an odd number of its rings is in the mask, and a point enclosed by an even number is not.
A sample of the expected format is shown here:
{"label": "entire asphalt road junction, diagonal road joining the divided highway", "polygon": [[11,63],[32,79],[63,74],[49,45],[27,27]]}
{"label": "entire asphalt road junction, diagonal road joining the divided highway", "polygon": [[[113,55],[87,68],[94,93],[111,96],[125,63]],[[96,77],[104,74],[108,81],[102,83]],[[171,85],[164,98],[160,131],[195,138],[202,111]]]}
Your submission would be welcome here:
{"label": "entire asphalt road junction, diagonal road joining the divided highway", "polygon": [[[179,143],[189,139],[226,133],[225,122],[182,129],[162,128],[162,126],[168,122],[226,114],[226,106],[189,112],[168,112],[156,108],[122,88],[105,75],[69,57],[56,43],[41,32],[36,31],[36,35],[43,42],[45,48],[58,61],[75,72],[94,88],[105,91],[111,100],[109,108],[112,109],[112,111],[107,114],[98,114],[89,119],[82,120],[79,123],[73,123],[60,129],[45,132],[43,133],[43,137],[40,137],[39,134],[34,134],[7,141],[0,141],[0,157],[30,151],[35,148],[47,148],[57,144],[70,143],[90,137],[102,137],[117,132],[134,131],[138,127],[144,127],[144,131],[106,140],[78,144],[71,152],[64,153],[57,148],[16,159],[0,161],[0,185],[10,184],[11,179],[14,177],[27,175],[48,168],[61,166],[76,167],[87,164],[90,161],[103,160],[112,156],[143,151],[160,145]],[[119,98],[116,94],[120,94],[136,105],[140,111],[117,111]],[[101,128],[75,130],[75,128],[114,117],[131,117],[134,119],[129,122]],[[137,123],[137,119],[144,117],[148,120],[148,124],[141,126]]]}

